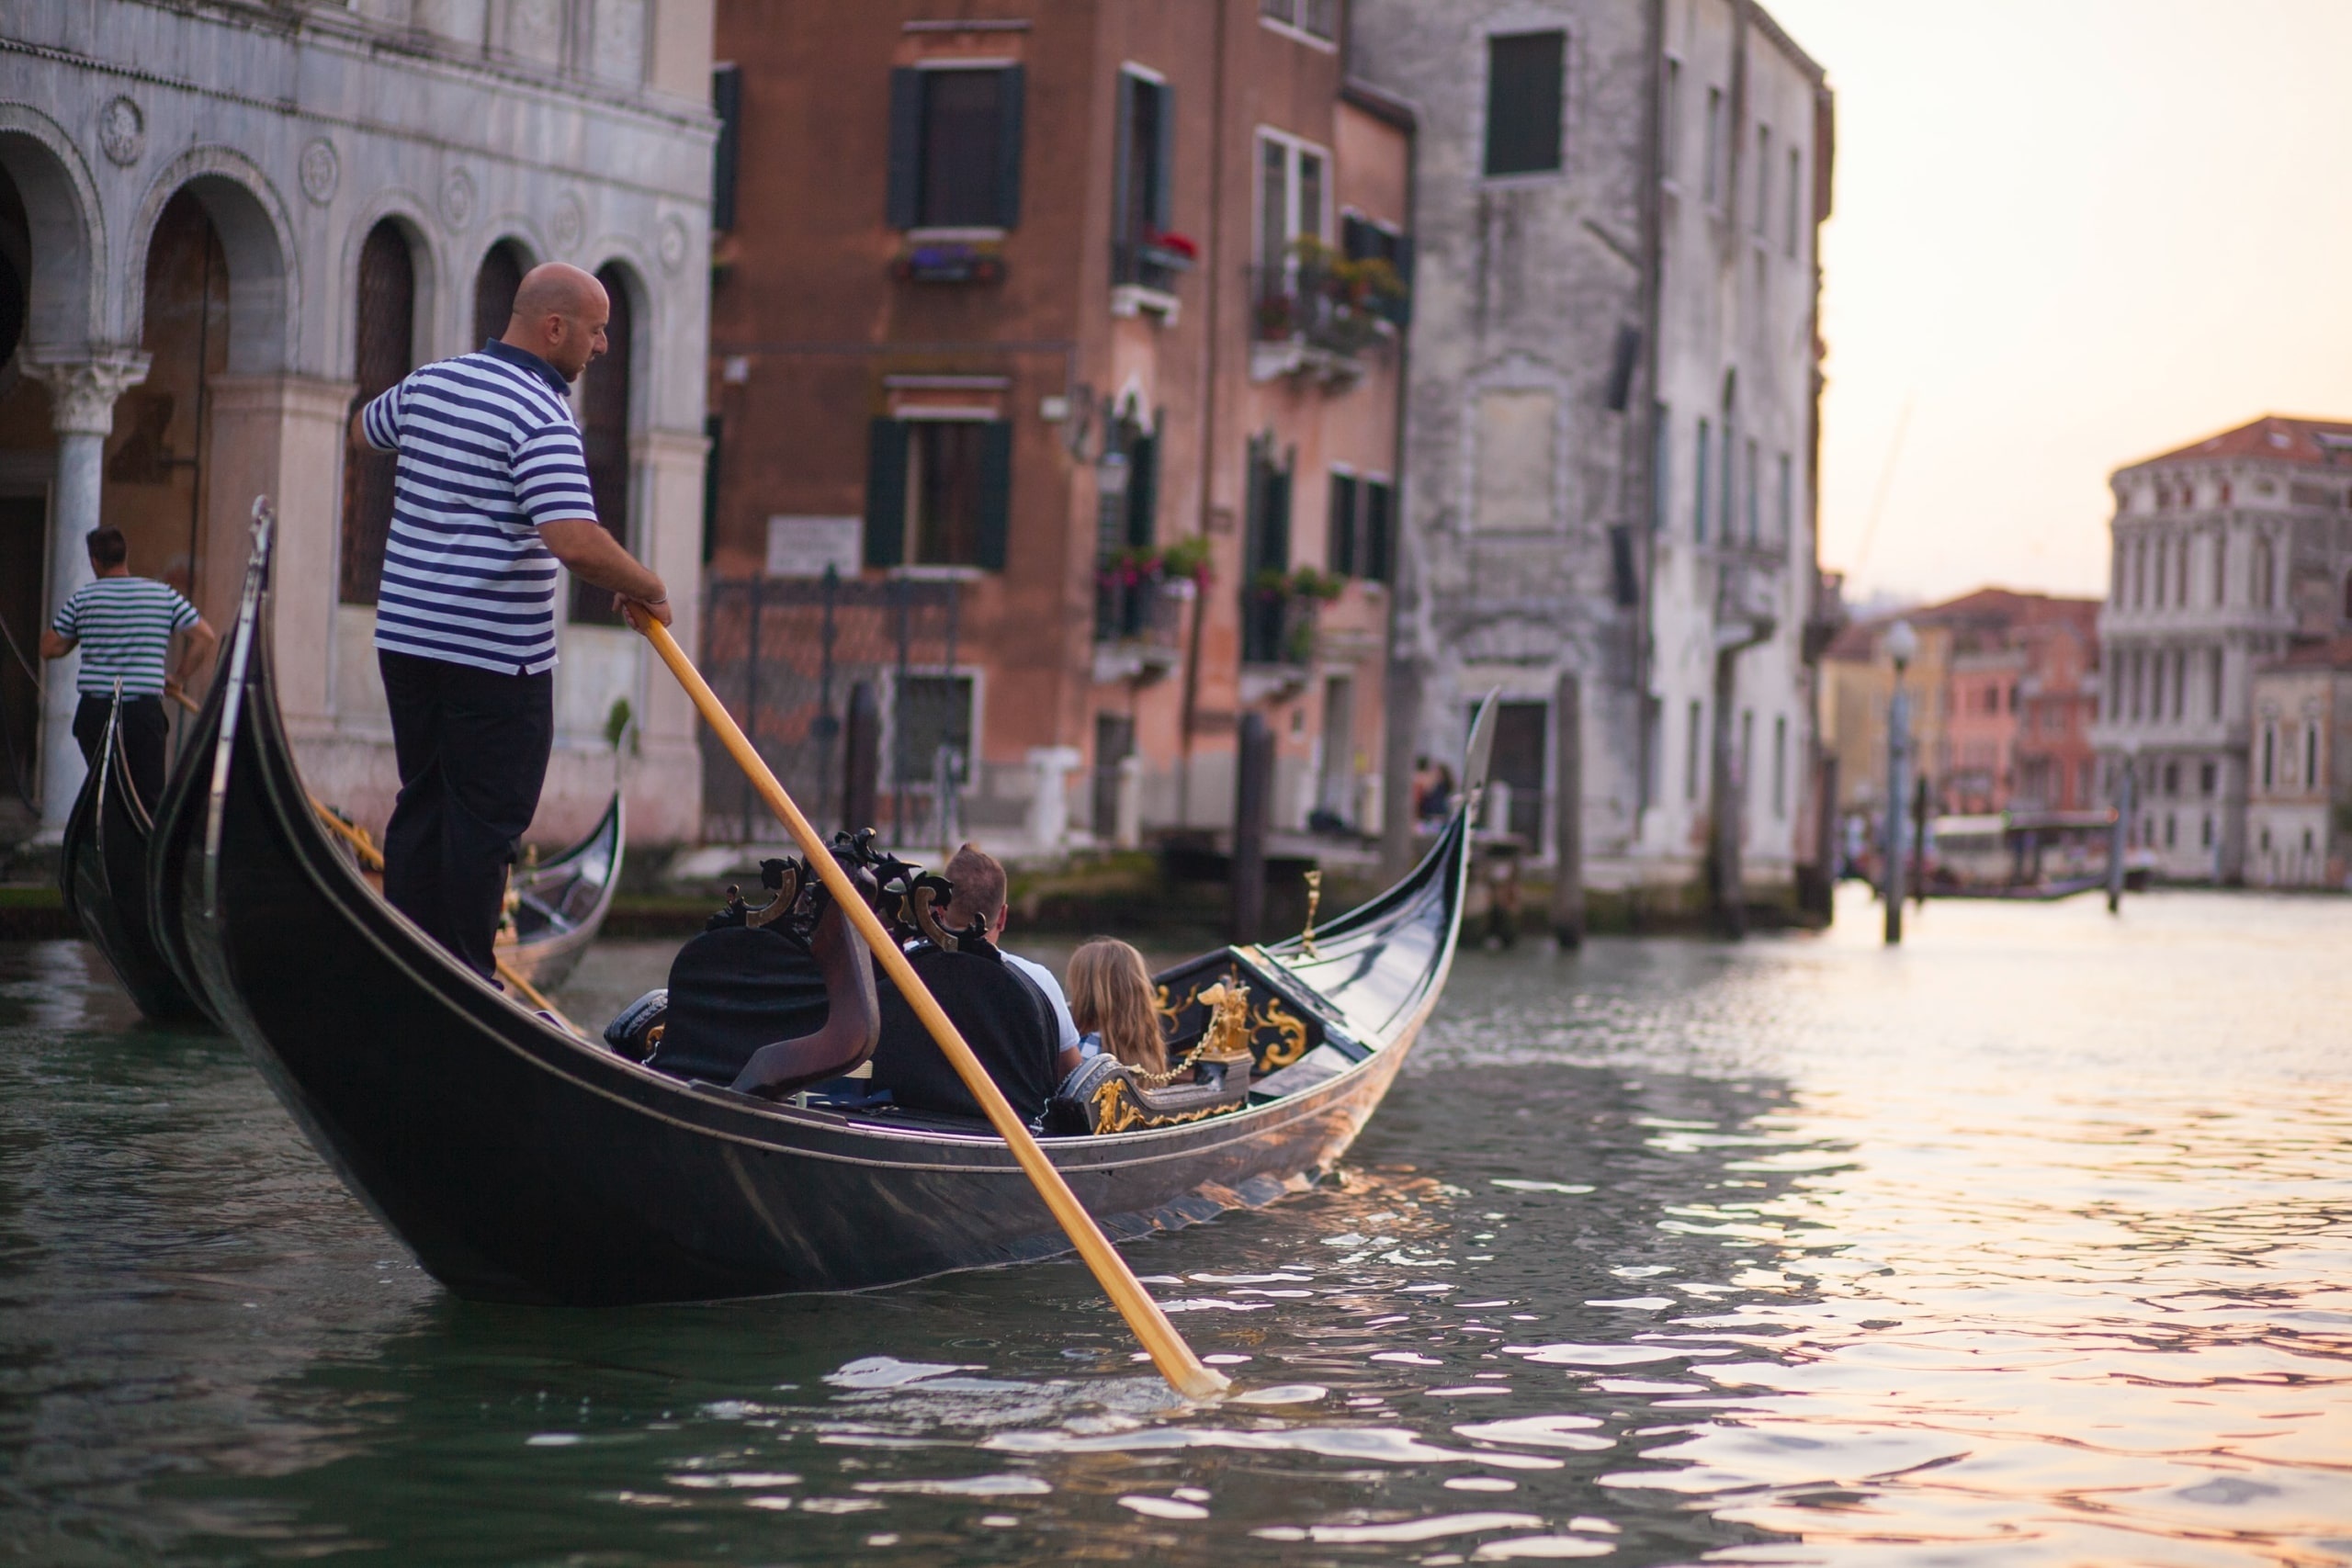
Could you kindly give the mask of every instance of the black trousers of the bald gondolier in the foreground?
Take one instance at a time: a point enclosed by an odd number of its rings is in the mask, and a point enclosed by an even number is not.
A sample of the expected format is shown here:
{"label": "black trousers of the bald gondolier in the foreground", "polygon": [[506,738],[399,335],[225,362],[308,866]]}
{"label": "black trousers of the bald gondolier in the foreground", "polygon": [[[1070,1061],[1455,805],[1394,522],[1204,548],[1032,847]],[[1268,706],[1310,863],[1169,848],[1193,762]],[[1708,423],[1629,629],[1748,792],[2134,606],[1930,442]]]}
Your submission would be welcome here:
{"label": "black trousers of the bald gondolier in the foreground", "polygon": [[496,675],[381,649],[376,668],[400,762],[383,896],[489,978],[506,867],[548,780],[555,672]]}

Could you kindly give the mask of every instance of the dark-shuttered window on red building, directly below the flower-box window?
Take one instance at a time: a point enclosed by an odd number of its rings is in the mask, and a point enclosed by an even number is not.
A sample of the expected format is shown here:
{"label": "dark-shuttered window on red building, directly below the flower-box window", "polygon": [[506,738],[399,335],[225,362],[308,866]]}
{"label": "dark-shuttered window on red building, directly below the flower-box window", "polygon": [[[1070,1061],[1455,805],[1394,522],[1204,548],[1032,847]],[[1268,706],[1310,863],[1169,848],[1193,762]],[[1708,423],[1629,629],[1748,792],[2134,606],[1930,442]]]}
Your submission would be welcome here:
{"label": "dark-shuttered window on red building, directly below the flower-box window", "polygon": [[866,461],[868,567],[1004,569],[1011,425],[877,418]]}

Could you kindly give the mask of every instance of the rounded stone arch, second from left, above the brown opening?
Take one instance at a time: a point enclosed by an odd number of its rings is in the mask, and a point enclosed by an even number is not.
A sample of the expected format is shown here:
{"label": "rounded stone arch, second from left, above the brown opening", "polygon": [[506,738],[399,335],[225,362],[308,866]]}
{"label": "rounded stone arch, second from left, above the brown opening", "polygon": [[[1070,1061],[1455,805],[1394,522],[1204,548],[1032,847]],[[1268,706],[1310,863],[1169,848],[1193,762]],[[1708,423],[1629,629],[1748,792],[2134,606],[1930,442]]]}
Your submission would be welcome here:
{"label": "rounded stone arch, second from left, above the brown opening", "polygon": [[[155,221],[181,188],[212,219],[228,261],[228,374],[254,376],[294,369],[301,322],[301,275],[294,266],[294,223],[268,176],[230,148],[191,148],[158,172],[139,202],[132,233],[141,256]],[[136,341],[146,317],[146,268],[125,277],[122,322]]]}

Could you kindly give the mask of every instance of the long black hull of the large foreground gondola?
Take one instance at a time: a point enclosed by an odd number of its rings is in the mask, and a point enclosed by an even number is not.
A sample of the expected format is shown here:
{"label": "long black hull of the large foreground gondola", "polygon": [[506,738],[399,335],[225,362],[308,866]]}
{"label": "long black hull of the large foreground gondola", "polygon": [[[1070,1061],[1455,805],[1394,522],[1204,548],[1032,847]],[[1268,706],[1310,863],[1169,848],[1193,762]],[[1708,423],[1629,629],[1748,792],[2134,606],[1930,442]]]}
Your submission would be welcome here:
{"label": "long black hull of the large foreground gondola", "polygon": [[[200,736],[205,788],[172,799],[155,877],[223,1027],[435,1279],[475,1300],[675,1302],[1068,1248],[983,1124],[682,1084],[524,1011],[428,943],[308,806],[278,715],[266,557],[263,529],[228,701]],[[1263,1077],[1242,1110],[1044,1140],[1112,1237],[1272,1201],[1341,1159],[1444,987],[1465,820],[1312,943],[1225,947],[1160,978],[1178,1044],[1207,1023],[1202,990],[1244,980]]]}

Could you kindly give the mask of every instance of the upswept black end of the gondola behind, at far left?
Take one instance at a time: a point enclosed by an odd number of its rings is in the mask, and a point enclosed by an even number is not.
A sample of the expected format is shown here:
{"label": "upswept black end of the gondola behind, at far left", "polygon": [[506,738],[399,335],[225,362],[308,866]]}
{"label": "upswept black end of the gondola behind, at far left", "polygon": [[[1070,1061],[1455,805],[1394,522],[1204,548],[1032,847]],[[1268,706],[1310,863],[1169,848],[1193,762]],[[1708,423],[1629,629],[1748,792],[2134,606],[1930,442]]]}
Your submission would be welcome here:
{"label": "upswept black end of the gondola behind, at far left", "polygon": [[106,715],[99,759],[66,818],[59,891],[141,1013],[158,1023],[198,1023],[205,1009],[172,971],[148,914],[146,863],[155,820],[151,802],[139,799],[132,783],[120,717],[118,701]]}

